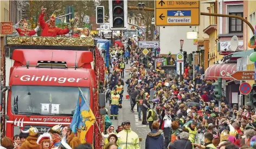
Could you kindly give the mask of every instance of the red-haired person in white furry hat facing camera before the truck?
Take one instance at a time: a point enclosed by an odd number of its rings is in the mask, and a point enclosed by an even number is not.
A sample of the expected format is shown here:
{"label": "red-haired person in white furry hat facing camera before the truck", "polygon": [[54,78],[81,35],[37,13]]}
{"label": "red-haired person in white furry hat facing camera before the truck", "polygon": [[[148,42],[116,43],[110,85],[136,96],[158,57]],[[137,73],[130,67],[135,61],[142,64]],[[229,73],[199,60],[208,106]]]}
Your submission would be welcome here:
{"label": "red-haired person in white furry hat facing camera before the truck", "polygon": [[[50,133],[44,133],[39,136],[36,143],[40,145],[40,149],[52,149],[50,146],[52,142],[52,137],[50,136]],[[58,147],[56,147],[57,149]]]}

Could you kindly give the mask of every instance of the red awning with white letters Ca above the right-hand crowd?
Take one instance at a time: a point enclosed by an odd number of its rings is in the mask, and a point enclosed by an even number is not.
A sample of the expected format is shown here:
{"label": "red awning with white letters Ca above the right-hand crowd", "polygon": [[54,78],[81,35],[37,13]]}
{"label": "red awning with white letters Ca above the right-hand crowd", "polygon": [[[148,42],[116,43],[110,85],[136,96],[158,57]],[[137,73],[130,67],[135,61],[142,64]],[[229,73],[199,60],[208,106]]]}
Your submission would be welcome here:
{"label": "red awning with white letters Ca above the right-hand crowd", "polygon": [[209,80],[217,80],[222,78],[223,80],[233,80],[230,75],[236,71],[236,63],[228,64],[214,64],[209,66],[204,73],[204,78]]}

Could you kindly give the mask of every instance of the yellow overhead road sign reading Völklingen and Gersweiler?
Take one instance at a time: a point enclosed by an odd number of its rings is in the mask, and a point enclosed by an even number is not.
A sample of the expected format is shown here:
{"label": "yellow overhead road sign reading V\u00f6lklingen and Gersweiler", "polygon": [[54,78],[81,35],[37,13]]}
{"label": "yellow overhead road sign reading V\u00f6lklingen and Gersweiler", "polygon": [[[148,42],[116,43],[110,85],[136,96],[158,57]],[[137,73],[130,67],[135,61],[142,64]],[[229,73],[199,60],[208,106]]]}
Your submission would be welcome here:
{"label": "yellow overhead road sign reading V\u00f6lklingen and Gersweiler", "polygon": [[155,25],[199,25],[199,1],[155,1]]}

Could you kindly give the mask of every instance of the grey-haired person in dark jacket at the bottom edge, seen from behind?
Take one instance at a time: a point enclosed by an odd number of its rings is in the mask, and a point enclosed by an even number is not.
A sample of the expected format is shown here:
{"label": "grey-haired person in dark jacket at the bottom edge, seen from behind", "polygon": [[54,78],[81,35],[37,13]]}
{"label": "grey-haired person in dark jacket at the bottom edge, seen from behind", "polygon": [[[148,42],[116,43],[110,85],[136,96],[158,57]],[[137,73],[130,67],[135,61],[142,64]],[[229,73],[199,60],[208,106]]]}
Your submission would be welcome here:
{"label": "grey-haired person in dark jacket at the bottom edge, seen from behind", "polygon": [[180,134],[178,134],[177,136],[177,140],[174,141],[173,144],[170,144],[168,146],[169,149],[192,149],[192,143],[190,142],[190,140],[188,139],[189,137],[189,133],[188,132],[181,132]]}

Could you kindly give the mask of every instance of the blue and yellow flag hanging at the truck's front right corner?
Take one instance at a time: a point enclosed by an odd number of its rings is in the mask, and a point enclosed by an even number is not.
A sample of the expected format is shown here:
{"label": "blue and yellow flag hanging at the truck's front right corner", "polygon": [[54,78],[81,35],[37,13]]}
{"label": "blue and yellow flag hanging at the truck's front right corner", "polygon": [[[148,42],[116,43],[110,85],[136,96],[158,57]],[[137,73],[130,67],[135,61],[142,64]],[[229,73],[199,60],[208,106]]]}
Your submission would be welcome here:
{"label": "blue and yellow flag hanging at the truck's front right corner", "polygon": [[95,122],[95,116],[86,101],[84,94],[79,88],[78,102],[75,107],[71,129],[73,133],[78,133],[81,143],[86,143],[85,136],[89,128]]}

